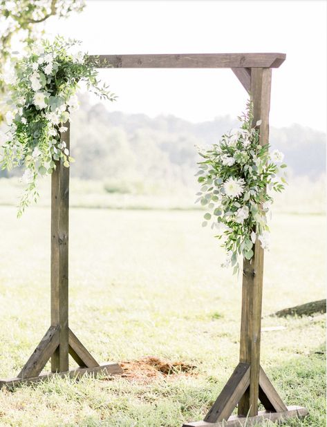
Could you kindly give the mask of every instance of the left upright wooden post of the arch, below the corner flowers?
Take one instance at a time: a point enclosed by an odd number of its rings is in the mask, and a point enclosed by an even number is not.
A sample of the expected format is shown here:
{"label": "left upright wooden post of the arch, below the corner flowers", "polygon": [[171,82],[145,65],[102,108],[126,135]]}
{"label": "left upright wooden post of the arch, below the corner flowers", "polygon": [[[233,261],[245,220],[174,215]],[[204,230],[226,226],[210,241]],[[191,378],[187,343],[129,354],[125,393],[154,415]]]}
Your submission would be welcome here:
{"label": "left upright wooden post of the arch, below the corner flowers", "polygon": [[[62,133],[69,149],[70,124]],[[59,325],[59,346],[51,357],[51,371],[68,371],[68,209],[69,168],[62,162],[51,177],[51,325]]]}

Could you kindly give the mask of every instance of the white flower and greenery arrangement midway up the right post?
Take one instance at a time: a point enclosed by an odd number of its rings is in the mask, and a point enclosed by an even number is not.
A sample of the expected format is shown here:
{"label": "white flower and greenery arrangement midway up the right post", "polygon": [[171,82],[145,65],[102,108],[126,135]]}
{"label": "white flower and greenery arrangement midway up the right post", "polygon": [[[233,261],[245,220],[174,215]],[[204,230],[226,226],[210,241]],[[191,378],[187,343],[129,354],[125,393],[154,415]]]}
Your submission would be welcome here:
{"label": "white flower and greenery arrangement midway up the right post", "polygon": [[205,159],[199,163],[197,193],[201,205],[207,207],[203,227],[212,221],[227,252],[223,267],[239,272],[241,258],[250,260],[253,246],[259,239],[269,249],[269,226],[266,214],[273,202],[270,190],[282,191],[286,184],[283,153],[270,153],[269,144],[261,146],[259,126],[253,126],[252,103],[238,117],[240,129],[223,135],[209,150],[200,150]]}

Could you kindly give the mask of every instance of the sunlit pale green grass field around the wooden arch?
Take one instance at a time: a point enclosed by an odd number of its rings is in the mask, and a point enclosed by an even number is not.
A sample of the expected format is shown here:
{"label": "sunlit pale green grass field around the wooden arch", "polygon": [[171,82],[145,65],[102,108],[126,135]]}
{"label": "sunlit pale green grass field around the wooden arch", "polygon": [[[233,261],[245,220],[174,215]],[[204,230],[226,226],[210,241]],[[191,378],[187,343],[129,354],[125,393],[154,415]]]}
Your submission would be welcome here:
{"label": "sunlit pale green grass field around the wooden arch", "polygon": [[[17,374],[50,322],[50,211],[0,207],[0,376]],[[55,379],[0,392],[0,426],[174,427],[203,419],[239,355],[241,283],[200,211],[71,209],[70,325],[98,361],[155,356],[196,369],[158,376]],[[324,298],[322,215],[276,214],[265,254],[262,364],[286,404],[322,427],[325,316],[277,319]],[[269,422],[266,424],[270,425]]]}

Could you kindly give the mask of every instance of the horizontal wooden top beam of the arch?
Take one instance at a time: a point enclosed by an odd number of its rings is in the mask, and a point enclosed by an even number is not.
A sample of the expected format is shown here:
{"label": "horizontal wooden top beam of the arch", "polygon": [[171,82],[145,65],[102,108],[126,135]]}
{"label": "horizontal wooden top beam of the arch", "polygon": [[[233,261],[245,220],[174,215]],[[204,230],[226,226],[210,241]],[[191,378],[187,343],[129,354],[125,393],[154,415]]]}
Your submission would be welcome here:
{"label": "horizontal wooden top beam of the arch", "polygon": [[90,55],[98,68],[278,68],[285,53],[183,53]]}

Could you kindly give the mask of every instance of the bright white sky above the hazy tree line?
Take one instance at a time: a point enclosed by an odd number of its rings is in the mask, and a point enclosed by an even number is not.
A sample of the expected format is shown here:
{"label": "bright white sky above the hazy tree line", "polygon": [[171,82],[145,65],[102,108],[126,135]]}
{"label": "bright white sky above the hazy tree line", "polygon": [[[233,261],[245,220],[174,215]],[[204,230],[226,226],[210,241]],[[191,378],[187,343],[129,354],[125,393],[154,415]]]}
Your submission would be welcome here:
{"label": "bright white sky above the hazy tree line", "polygon": [[[270,123],[326,131],[326,1],[88,0],[46,30],[82,40],[90,54],[281,52]],[[174,114],[192,122],[243,111],[231,70],[102,70],[118,94],[111,111]]]}

